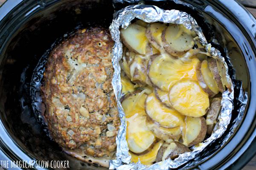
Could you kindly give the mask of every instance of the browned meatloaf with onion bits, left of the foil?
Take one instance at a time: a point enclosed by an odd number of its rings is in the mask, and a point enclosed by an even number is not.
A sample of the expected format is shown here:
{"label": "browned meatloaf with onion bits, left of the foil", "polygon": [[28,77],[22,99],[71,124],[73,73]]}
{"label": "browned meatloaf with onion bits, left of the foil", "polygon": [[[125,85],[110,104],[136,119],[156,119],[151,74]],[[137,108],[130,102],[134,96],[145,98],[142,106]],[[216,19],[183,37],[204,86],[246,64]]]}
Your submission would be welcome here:
{"label": "browned meatloaf with onion bits, left of the foil", "polygon": [[112,48],[107,29],[87,28],[57,45],[47,61],[42,96],[50,135],[80,155],[112,156],[116,149]]}

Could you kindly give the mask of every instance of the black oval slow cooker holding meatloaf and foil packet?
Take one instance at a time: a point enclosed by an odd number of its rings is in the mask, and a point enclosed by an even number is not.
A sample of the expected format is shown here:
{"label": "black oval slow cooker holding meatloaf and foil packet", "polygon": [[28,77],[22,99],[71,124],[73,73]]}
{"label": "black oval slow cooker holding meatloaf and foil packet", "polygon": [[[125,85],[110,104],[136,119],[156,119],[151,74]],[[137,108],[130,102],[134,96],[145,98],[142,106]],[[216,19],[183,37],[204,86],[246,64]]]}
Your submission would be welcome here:
{"label": "black oval slow cooker holding meatloaf and foil packet", "polygon": [[[189,168],[241,169],[256,153],[256,19],[235,0],[183,1],[190,5],[184,6],[179,0],[144,3],[191,14],[207,40],[224,56],[224,46],[233,51],[229,57],[236,73],[230,70],[230,75],[236,74],[248,93],[243,120],[228,142],[218,147],[227,135],[224,134],[189,162]],[[32,109],[30,82],[39,59],[64,34],[77,26],[108,27],[114,11],[133,3],[138,2],[7,0],[0,7],[0,160],[68,160],[69,169],[105,169],[67,155],[47,136],[45,125]],[[235,105],[232,121],[238,114],[237,108]],[[41,165],[35,169],[46,168]]]}

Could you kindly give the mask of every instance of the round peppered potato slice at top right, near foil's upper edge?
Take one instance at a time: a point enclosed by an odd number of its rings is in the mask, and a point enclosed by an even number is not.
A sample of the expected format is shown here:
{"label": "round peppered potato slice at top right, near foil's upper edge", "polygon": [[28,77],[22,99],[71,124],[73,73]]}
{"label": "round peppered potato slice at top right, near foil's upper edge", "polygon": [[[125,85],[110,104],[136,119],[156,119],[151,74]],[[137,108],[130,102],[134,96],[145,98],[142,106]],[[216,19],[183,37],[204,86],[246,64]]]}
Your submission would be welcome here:
{"label": "round peppered potato slice at top right, near foil's upper edge", "polygon": [[180,56],[193,48],[195,42],[189,31],[185,32],[185,27],[171,25],[163,30],[163,47],[171,55]]}

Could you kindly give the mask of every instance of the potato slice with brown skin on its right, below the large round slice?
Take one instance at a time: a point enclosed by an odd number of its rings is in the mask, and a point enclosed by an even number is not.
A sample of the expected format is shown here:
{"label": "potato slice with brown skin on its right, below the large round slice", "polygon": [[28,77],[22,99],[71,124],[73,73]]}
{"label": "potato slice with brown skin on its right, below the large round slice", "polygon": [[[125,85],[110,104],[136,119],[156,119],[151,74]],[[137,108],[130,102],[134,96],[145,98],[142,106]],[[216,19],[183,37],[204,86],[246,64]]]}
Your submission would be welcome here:
{"label": "potato slice with brown skin on its right, below the large round slice", "polygon": [[203,116],[185,118],[185,125],[183,127],[183,144],[187,147],[199,144],[204,140],[206,135],[207,125]]}

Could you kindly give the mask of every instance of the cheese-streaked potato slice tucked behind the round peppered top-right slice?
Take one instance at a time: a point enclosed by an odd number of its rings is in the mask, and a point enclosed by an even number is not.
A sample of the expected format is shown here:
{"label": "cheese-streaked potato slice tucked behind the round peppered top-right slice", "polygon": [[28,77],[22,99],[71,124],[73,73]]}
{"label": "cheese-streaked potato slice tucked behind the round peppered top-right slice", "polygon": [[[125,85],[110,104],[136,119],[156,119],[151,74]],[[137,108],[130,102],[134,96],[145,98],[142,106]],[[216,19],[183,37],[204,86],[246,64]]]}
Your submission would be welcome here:
{"label": "cheese-streaked potato slice tucked behind the round peppered top-right slice", "polygon": [[148,41],[159,51],[163,51],[162,32],[166,28],[160,23],[151,23],[146,30]]}

